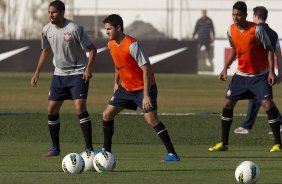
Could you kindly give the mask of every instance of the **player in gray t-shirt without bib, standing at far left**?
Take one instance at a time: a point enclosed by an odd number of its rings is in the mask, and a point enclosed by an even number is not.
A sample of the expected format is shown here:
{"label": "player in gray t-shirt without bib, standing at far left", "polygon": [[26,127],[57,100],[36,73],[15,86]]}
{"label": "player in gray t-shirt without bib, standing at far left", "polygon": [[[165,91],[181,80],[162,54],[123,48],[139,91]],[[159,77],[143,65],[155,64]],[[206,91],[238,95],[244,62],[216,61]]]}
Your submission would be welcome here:
{"label": "player in gray t-shirt without bib, standing at far left", "polygon": [[[50,85],[48,97],[48,126],[52,140],[52,148],[44,156],[60,155],[59,112],[64,100],[74,102],[85,140],[85,150],[93,151],[92,124],[86,108],[89,79],[92,77],[93,61],[97,50],[83,27],[64,18],[65,5],[61,1],[53,1],[48,8],[50,23],[42,31],[42,51],[38,66],[31,79],[36,86],[39,73],[51,52],[54,55],[55,71]],[[86,50],[89,57],[86,56]]]}

